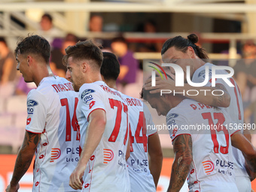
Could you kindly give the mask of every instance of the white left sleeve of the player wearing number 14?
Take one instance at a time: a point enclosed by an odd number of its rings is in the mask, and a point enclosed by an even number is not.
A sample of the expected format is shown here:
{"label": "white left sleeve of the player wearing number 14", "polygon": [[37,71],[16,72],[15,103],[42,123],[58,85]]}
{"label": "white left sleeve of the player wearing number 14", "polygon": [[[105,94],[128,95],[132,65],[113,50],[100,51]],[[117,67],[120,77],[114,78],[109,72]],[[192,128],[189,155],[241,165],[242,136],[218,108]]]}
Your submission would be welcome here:
{"label": "white left sleeve of the player wearing number 14", "polygon": [[27,98],[27,112],[26,130],[31,133],[42,133],[47,117],[47,99],[38,92],[38,90],[31,90]]}

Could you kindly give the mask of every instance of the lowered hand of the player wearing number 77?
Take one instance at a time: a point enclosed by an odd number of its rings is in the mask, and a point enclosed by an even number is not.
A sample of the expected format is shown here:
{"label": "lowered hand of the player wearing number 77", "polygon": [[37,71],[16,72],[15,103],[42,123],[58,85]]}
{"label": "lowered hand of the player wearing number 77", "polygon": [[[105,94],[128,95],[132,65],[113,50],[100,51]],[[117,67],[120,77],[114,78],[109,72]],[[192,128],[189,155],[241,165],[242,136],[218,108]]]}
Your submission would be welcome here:
{"label": "lowered hand of the player wearing number 77", "polygon": [[78,166],[75,168],[75,170],[72,172],[72,174],[69,177],[69,186],[72,187],[75,190],[82,189],[82,177],[84,175],[84,170],[86,166],[81,166],[78,163]]}

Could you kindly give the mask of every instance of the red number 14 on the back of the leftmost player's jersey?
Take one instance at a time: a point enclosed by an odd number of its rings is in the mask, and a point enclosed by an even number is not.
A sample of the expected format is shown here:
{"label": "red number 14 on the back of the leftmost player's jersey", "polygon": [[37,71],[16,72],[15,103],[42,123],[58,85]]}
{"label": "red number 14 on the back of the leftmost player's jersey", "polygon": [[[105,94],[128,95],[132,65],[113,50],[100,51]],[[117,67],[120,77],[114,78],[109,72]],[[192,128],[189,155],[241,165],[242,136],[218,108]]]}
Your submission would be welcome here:
{"label": "red number 14 on the back of the leftmost player's jersey", "polygon": [[66,142],[71,141],[71,126],[74,131],[77,132],[77,137],[76,140],[80,140],[80,126],[78,125],[78,119],[77,119],[77,114],[76,114],[76,109],[78,106],[78,98],[75,97],[75,108],[74,108],[74,114],[72,117],[72,120],[70,119],[70,114],[69,114],[69,102],[68,99],[60,99],[60,103],[62,106],[66,106]]}

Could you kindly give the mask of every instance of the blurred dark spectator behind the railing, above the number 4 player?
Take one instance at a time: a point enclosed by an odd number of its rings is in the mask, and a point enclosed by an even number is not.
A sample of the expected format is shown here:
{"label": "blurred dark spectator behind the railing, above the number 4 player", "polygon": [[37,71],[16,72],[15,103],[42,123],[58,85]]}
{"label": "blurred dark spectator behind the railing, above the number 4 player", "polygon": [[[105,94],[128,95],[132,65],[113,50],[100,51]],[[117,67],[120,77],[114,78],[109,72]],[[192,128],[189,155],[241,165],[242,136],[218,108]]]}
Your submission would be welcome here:
{"label": "blurred dark spectator behind the railing, above the number 4 player", "polygon": [[[145,23],[140,24],[139,32],[153,34],[157,32],[157,23],[154,20],[146,20]],[[162,43],[148,40],[145,43],[138,44],[139,52],[161,52]]]}

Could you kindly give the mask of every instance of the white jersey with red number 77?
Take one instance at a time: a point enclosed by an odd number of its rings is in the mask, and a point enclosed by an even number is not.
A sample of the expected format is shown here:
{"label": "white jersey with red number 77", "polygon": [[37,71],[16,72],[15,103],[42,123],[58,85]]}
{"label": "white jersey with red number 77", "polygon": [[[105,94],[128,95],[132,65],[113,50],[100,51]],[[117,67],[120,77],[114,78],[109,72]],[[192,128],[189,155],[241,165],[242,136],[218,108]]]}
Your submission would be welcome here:
{"label": "white jersey with red number 77", "polygon": [[106,112],[107,123],[102,139],[87,163],[82,191],[128,192],[130,180],[125,160],[129,139],[128,106],[120,93],[111,90],[103,81],[82,85],[77,108],[81,148],[87,138],[88,117],[96,109]]}

